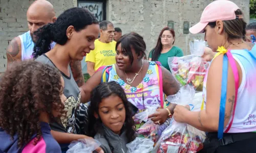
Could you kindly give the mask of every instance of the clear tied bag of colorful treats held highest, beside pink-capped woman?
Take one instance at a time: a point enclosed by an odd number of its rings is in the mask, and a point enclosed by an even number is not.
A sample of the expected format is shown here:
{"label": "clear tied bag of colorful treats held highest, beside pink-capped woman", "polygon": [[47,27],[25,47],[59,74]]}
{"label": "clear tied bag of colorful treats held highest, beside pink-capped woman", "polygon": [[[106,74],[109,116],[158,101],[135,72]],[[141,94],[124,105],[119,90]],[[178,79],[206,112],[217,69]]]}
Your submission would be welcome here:
{"label": "clear tied bag of colorful treats held highest, beside pink-capped woman", "polygon": [[205,41],[194,40],[189,43],[191,55],[168,58],[172,74],[182,86],[194,86],[196,91],[203,90],[203,80],[208,68],[208,62],[201,56],[204,54]]}

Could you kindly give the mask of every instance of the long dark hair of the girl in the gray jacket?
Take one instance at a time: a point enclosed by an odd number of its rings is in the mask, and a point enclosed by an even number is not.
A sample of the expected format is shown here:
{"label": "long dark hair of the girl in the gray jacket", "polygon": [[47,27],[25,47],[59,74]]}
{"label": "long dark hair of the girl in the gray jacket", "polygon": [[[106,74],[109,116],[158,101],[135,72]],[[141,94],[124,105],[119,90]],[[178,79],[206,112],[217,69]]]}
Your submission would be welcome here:
{"label": "long dark hair of the girl in the gray jacket", "polygon": [[94,117],[94,113],[99,114],[99,103],[103,98],[109,97],[111,95],[119,96],[125,108],[125,121],[122,127],[126,130],[126,137],[129,142],[135,139],[135,123],[132,118],[132,108],[130,102],[126,98],[126,94],[122,87],[114,81],[104,82],[98,85],[91,93],[91,104],[89,106],[89,132],[90,136],[94,137],[98,132],[99,128],[102,126],[100,119]]}

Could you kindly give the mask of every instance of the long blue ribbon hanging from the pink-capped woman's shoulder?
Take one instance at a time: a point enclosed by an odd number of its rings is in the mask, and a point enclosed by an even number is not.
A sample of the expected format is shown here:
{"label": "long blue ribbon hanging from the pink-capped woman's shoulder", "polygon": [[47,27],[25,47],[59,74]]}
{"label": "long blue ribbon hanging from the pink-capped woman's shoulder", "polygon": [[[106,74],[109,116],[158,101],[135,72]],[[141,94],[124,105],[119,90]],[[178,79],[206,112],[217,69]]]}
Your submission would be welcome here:
{"label": "long blue ribbon hanging from the pink-capped woman's shoulder", "polygon": [[223,68],[222,68],[221,103],[220,103],[218,139],[223,138],[223,131],[224,131],[225,107],[226,107],[226,99],[227,99],[227,74],[228,74],[228,58],[227,58],[227,55],[224,54]]}

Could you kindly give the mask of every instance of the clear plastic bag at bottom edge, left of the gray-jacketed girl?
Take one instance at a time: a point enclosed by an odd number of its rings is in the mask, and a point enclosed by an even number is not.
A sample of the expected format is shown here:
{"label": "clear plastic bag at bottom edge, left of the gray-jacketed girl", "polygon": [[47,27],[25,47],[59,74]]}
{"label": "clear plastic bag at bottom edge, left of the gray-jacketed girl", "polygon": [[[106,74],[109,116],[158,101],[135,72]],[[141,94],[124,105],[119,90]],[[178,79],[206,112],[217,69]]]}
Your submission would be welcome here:
{"label": "clear plastic bag at bottom edge, left of the gray-jacketed girl", "polygon": [[71,142],[67,153],[92,153],[100,145],[100,142],[95,139],[79,139]]}

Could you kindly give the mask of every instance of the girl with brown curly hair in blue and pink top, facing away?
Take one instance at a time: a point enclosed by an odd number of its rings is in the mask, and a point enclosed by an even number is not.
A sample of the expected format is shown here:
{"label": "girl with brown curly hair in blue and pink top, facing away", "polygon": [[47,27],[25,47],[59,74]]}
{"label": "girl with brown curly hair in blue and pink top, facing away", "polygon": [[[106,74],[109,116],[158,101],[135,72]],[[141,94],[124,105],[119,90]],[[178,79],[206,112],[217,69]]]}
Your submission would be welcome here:
{"label": "girl with brown curly hair in blue and pink top, facing away", "polygon": [[13,64],[0,83],[0,152],[61,152],[49,121],[64,111],[60,72],[36,61]]}

